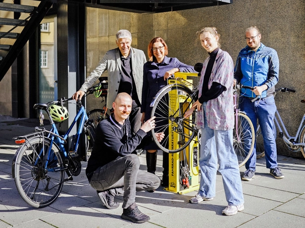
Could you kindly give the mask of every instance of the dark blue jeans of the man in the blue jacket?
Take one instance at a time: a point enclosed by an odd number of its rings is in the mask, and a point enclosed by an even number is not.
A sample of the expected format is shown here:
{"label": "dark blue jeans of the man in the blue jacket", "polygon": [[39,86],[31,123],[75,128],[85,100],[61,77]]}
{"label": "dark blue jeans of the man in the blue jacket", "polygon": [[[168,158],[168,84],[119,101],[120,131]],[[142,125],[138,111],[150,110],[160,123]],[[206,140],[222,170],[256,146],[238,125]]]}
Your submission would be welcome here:
{"label": "dark blue jeans of the man in the blue jacket", "polygon": [[[273,96],[268,96],[251,102],[251,99],[247,97],[239,98],[239,108],[241,111],[245,111],[247,116],[251,119],[254,131],[257,130],[257,120],[261,128],[264,149],[265,149],[265,159],[266,167],[268,169],[274,169],[278,167],[277,163],[277,145],[274,136],[274,125],[275,113],[277,106]],[[253,153],[250,159],[246,163],[246,169],[250,169],[255,172],[256,167],[256,141],[254,143]]]}

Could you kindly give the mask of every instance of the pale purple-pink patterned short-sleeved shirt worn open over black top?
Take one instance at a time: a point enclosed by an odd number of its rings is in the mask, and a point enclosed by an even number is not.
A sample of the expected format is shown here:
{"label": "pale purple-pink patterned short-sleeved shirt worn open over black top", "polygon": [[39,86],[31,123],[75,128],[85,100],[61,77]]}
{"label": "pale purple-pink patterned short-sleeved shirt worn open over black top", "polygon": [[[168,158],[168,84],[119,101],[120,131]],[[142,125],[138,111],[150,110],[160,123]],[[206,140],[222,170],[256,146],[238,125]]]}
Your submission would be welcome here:
{"label": "pale purple-pink patterned short-sleeved shirt worn open over black top", "polygon": [[[202,84],[205,69],[210,57],[207,57],[203,63],[201,78],[199,84],[199,97],[201,96]],[[217,98],[207,101],[206,103],[206,118],[209,128],[214,130],[231,130],[234,128],[234,107],[233,107],[233,60],[229,53],[219,49],[210,79],[208,88],[213,82],[217,82],[226,90]],[[197,126],[204,128],[204,112],[203,106],[197,113]]]}

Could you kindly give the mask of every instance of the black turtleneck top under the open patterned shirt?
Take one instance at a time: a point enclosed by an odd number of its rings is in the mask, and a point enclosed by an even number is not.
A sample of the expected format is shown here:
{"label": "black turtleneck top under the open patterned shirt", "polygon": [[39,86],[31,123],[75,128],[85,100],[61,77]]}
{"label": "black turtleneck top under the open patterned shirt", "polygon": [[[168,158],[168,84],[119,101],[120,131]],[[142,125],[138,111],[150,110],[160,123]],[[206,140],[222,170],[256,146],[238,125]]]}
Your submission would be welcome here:
{"label": "black turtleneck top under the open patterned shirt", "polygon": [[220,94],[222,94],[222,92],[226,90],[226,87],[224,87],[223,85],[217,82],[213,82],[211,88],[208,89],[208,82],[211,76],[212,68],[215,63],[215,59],[218,51],[219,48],[208,53],[210,55],[210,59],[207,63],[204,73],[201,97],[199,97],[198,99],[201,104],[205,101],[217,98]]}

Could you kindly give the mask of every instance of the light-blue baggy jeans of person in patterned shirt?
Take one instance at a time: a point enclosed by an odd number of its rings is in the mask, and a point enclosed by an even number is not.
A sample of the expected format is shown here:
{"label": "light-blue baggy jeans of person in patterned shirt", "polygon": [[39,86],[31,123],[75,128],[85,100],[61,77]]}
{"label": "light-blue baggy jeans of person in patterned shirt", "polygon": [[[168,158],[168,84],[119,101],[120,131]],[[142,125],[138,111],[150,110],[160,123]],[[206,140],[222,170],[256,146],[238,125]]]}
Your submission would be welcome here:
{"label": "light-blue baggy jeans of person in patterned shirt", "polygon": [[205,198],[216,195],[216,174],[222,175],[228,205],[243,204],[243,194],[237,157],[233,148],[233,130],[213,130],[207,126],[206,102],[204,108],[204,128],[201,129],[199,166],[201,172],[198,193]]}

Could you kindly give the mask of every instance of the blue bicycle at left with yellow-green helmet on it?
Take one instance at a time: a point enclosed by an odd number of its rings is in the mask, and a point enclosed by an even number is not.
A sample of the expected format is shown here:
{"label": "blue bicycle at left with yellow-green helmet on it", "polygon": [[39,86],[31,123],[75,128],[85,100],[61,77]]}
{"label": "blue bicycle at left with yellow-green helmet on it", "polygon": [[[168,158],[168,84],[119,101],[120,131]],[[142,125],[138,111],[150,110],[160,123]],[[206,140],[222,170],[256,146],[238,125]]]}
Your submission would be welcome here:
{"label": "blue bicycle at left with yellow-green helmet on it", "polygon": [[[69,113],[63,104],[69,100],[72,98],[35,104],[34,108],[40,109],[41,113],[46,111],[51,130],[36,127],[34,133],[14,138],[21,145],[13,158],[12,176],[22,199],[36,208],[52,204],[64,182],[80,174],[81,161],[85,159],[77,152],[81,133],[85,133],[90,146],[94,145],[95,126],[80,100],[76,101],[78,112],[73,123],[65,135],[59,135],[54,121],[68,118]],[[77,121],[77,133],[73,135],[68,151],[67,139]],[[65,173],[68,175],[66,179]]]}

